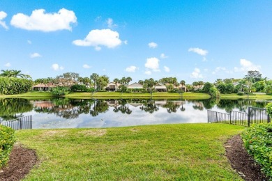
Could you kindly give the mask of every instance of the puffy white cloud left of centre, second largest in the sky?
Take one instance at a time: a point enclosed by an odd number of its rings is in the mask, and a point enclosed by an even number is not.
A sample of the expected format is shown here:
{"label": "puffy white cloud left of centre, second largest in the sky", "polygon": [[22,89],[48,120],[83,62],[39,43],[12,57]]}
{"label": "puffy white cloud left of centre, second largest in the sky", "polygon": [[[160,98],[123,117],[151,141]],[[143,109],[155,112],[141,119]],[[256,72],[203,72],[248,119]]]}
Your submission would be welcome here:
{"label": "puffy white cloud left of centre, second largest in the sky", "polygon": [[101,49],[100,46],[108,48],[115,48],[121,45],[119,33],[110,29],[94,29],[89,32],[84,40],[74,40],[73,44],[77,46],[92,46],[97,51]]}

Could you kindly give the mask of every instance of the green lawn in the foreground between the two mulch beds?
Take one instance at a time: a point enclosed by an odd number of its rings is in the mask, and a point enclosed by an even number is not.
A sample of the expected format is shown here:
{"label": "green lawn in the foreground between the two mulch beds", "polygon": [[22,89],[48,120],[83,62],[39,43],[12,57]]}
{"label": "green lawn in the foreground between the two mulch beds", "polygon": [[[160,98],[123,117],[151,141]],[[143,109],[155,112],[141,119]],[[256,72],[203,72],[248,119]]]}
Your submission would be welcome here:
{"label": "green lawn in the foreground between the two mulch beds", "polygon": [[16,136],[40,160],[26,180],[241,180],[224,143],[243,129],[206,123],[31,129]]}

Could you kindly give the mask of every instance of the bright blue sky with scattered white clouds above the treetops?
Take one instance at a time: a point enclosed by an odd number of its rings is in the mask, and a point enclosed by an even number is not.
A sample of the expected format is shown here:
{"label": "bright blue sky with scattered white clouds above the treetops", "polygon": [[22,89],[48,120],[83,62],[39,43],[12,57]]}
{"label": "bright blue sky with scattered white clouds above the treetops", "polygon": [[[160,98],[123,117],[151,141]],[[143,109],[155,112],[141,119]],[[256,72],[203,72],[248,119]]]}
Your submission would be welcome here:
{"label": "bright blue sky with scattered white clouds above the treetops", "polygon": [[0,69],[192,81],[272,77],[272,1],[0,1]]}

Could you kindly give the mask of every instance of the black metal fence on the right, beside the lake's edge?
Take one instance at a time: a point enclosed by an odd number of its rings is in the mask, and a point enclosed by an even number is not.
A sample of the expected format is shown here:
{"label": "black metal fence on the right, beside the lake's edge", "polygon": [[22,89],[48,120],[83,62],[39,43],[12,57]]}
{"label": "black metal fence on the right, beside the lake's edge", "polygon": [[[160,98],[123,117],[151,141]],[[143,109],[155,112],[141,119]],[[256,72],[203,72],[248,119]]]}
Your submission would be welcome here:
{"label": "black metal fence on the right, beside the lake's edge", "polygon": [[228,123],[249,127],[250,124],[271,123],[271,120],[266,109],[249,107],[248,113],[239,111],[220,113],[208,110],[208,123]]}

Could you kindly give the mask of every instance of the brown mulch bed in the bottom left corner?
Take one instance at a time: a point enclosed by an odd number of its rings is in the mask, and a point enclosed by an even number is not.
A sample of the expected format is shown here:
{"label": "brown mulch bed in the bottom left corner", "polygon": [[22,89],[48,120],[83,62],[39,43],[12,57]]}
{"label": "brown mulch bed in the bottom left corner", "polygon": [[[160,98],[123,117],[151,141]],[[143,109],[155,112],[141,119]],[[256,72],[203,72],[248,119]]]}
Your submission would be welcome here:
{"label": "brown mulch bed in the bottom left corner", "polygon": [[8,166],[0,170],[0,180],[22,180],[36,163],[37,156],[34,150],[16,144],[10,153]]}

